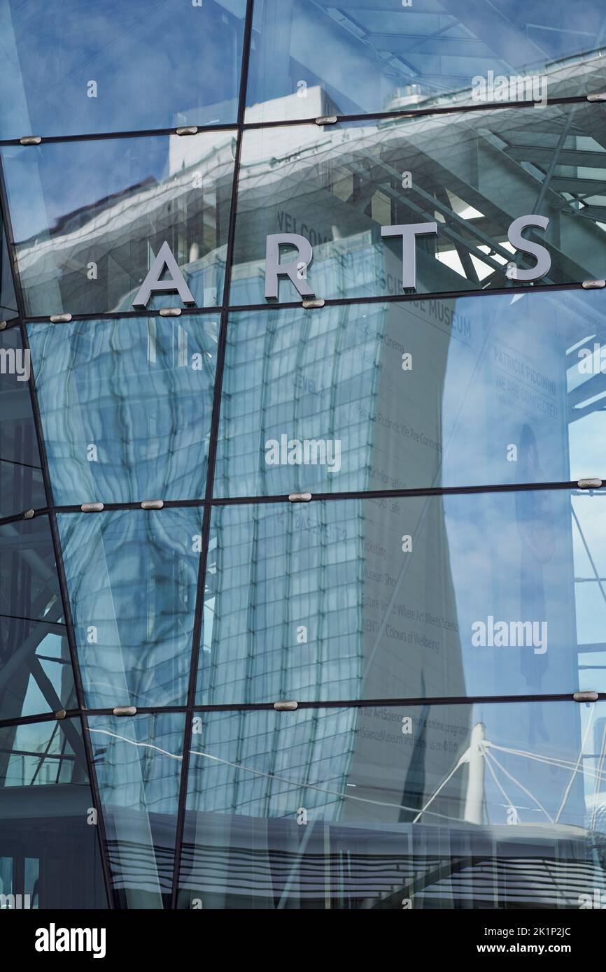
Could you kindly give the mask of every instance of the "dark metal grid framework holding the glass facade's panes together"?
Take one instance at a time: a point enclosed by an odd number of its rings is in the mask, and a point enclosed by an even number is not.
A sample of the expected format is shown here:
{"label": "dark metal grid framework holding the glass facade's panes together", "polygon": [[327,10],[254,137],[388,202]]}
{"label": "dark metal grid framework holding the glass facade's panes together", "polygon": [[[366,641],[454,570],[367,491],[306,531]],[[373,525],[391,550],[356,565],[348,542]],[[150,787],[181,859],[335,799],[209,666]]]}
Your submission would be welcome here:
{"label": "dark metal grid framework holding the glass facade's panes together", "polygon": [[[234,157],[234,167],[232,176],[232,201],[230,210],[230,220],[229,220],[229,233],[227,241],[227,260],[226,260],[226,271],[225,271],[225,281],[223,287],[223,299],[222,302],[214,307],[189,307],[184,313],[187,315],[204,315],[212,314],[215,316],[220,316],[220,328],[219,328],[219,339],[218,339],[218,350],[217,350],[217,364],[215,372],[215,385],[214,385],[214,396],[212,405],[212,418],[210,426],[210,444],[209,444],[209,455],[208,455],[208,469],[206,478],[206,489],[203,498],[199,499],[187,499],[180,501],[165,501],[164,506],[166,508],[171,507],[190,507],[190,506],[200,506],[203,509],[202,517],[202,540],[201,540],[201,552],[199,557],[198,566],[198,577],[197,577],[197,588],[196,588],[196,608],[195,608],[195,620],[194,620],[194,630],[193,630],[193,641],[191,646],[191,665],[190,665],[190,677],[188,685],[188,695],[187,704],[185,706],[165,706],[165,707],[140,707],[137,708],[137,713],[141,714],[153,714],[160,712],[181,712],[187,713],[189,716],[186,719],[185,727],[185,739],[183,747],[183,759],[181,768],[181,781],[180,781],[180,791],[179,791],[179,804],[178,813],[176,821],[176,839],[175,839],[175,857],[174,857],[174,869],[173,869],[173,881],[172,881],[172,893],[171,893],[171,908],[176,908],[177,906],[177,895],[179,889],[179,871],[181,863],[181,844],[184,834],[185,827],[185,813],[186,813],[186,801],[187,801],[187,782],[188,782],[188,771],[189,771],[189,750],[192,745],[192,731],[193,731],[193,716],[195,712],[238,712],[238,711],[267,711],[273,709],[273,702],[268,701],[267,703],[255,703],[255,704],[244,704],[244,703],[234,703],[234,704],[224,704],[224,705],[209,705],[209,706],[199,706],[196,705],[196,675],[197,675],[197,662],[199,653],[199,642],[201,636],[201,625],[202,625],[202,615],[203,615],[203,597],[204,597],[204,584],[206,576],[206,563],[208,556],[208,547],[210,539],[210,515],[213,506],[215,505],[231,505],[231,504],[252,504],[252,503],[289,503],[287,496],[259,496],[259,497],[226,497],[226,498],[216,498],[213,496],[213,482],[214,482],[214,472],[215,472],[215,460],[216,460],[216,450],[217,450],[217,436],[219,430],[219,417],[220,417],[220,407],[221,407],[221,395],[222,395],[222,382],[223,382],[223,369],[225,361],[225,353],[227,346],[227,330],[228,330],[228,318],[229,314],[237,311],[250,311],[258,310],[263,313],[271,314],[273,311],[288,309],[288,308],[300,308],[300,301],[274,301],[267,304],[247,304],[247,305],[231,305],[229,302],[230,295],[230,284],[232,276],[232,258],[234,249],[234,234],[235,234],[235,220],[236,220],[236,209],[237,209],[237,187],[239,179],[239,167],[240,167],[240,156],[242,150],[242,137],[246,130],[248,129],[259,129],[259,128],[273,128],[273,127],[285,127],[292,125],[309,125],[316,122],[316,119],[298,119],[298,120],[285,120],[285,121],[266,121],[266,122],[245,122],[244,112],[246,106],[246,86],[248,78],[248,64],[249,64],[249,54],[252,38],[253,29],[253,0],[247,0],[246,15],[244,20],[243,29],[243,50],[242,50],[242,63],[241,63],[241,73],[240,73],[240,85],[239,85],[239,102],[238,102],[238,112],[237,112],[237,122],[234,124],[225,125],[198,125],[196,126],[196,132],[221,132],[221,131],[232,131],[235,135],[235,157]],[[580,104],[587,103],[588,98],[585,95],[573,96],[573,97],[562,97],[553,98],[550,100],[550,104],[553,105],[566,105],[566,104]],[[453,115],[453,114],[463,114],[463,113],[474,113],[478,111],[485,111],[487,107],[498,107],[499,110],[517,110],[523,111],[527,108],[534,107],[534,102],[508,102],[501,103],[498,106],[487,106],[482,105],[456,105],[456,106],[446,106],[446,107],[433,107],[433,108],[423,108],[414,109],[410,108],[406,111],[395,111],[395,112],[376,112],[369,114],[358,114],[358,115],[346,115],[339,116],[337,118],[338,122],[346,121],[370,121],[373,119],[398,119],[407,118],[412,116],[426,116],[426,115]],[[599,111],[600,106],[597,104],[595,110]],[[152,128],[152,129],[139,129],[132,131],[119,131],[119,132],[103,132],[103,133],[89,133],[82,135],[68,135],[68,136],[50,136],[43,137],[44,143],[62,143],[62,142],[82,142],[90,140],[102,140],[102,139],[115,139],[115,138],[133,138],[133,137],[147,137],[147,136],[158,136],[158,135],[173,135],[175,133],[174,128]],[[187,138],[186,136],[183,136]],[[18,139],[5,139],[0,140],[0,146],[18,146],[20,144]],[[28,324],[36,324],[42,322],[48,322],[48,317],[28,317],[25,313],[25,302],[20,287],[20,281],[18,276],[18,262],[17,262],[17,246],[15,242],[15,236],[13,233],[13,228],[11,224],[11,213],[8,205],[8,194],[6,190],[4,174],[2,171],[2,166],[0,164],[0,210],[4,221],[5,231],[7,234],[8,241],[8,252],[9,259],[11,263],[11,273],[13,278],[13,284],[15,288],[15,294],[17,298],[18,306],[18,316],[15,319],[11,319],[5,323],[5,329],[18,328],[20,336],[23,343],[23,348],[28,349],[29,343],[27,338],[27,328]],[[532,285],[533,292],[556,292],[556,291],[570,291],[579,290],[582,288],[582,283],[571,283],[566,285]],[[527,288],[524,288],[527,290]],[[522,291],[523,292],[523,291]],[[491,288],[490,290],[471,290],[464,292],[466,297],[482,295],[484,297],[489,297],[490,295],[502,295],[511,293],[510,288]],[[423,294],[419,295],[414,292],[407,292],[401,295],[381,295],[381,296],[363,296],[363,297],[349,297],[349,298],[338,298],[338,299],[326,299],[326,306],[337,306],[337,305],[349,305],[349,304],[363,304],[363,303],[392,303],[392,302],[406,302],[407,300],[418,300],[419,298],[428,299],[432,296],[440,296],[441,299],[446,299],[448,297],[460,297],[462,293],[457,292],[440,292],[437,294]],[[313,313],[312,310],[309,313]],[[121,311],[121,312],[106,312],[106,313],[95,313],[95,314],[74,314],[72,316],[73,321],[87,321],[91,323],[96,320],[112,320],[120,318],[136,318],[136,317],[153,317],[160,314],[159,310],[132,310],[132,311]],[[60,327],[60,324],[56,325]],[[32,401],[34,424],[36,429],[36,436],[38,442],[39,453],[41,457],[43,480],[45,495],[47,499],[47,505],[43,508],[35,510],[36,516],[46,515],[49,518],[51,526],[51,534],[53,538],[53,553],[56,563],[56,570],[58,574],[59,590],[61,596],[61,604],[63,608],[63,616],[65,618],[65,629],[69,644],[69,654],[71,659],[71,665],[74,675],[74,683],[76,689],[76,699],[78,703],[78,708],[74,710],[69,710],[60,713],[60,718],[76,718],[79,720],[81,728],[83,741],[86,752],[86,762],[87,769],[89,773],[89,781],[92,792],[92,798],[97,811],[97,836],[99,841],[100,857],[102,861],[103,876],[107,891],[108,906],[110,908],[117,908],[118,899],[112,885],[112,879],[109,869],[109,859],[105,852],[107,848],[105,823],[103,817],[103,805],[100,799],[98,783],[96,779],[96,773],[94,769],[94,758],[92,752],[92,746],[90,744],[90,736],[88,731],[88,715],[111,715],[111,709],[87,709],[85,706],[85,696],[83,689],[82,676],[80,671],[78,652],[76,648],[76,639],[74,632],[74,624],[71,615],[70,600],[65,576],[65,570],[63,565],[62,551],[60,538],[56,523],[57,513],[77,513],[80,512],[80,506],[77,505],[55,505],[53,503],[53,485],[50,475],[49,463],[45,447],[45,439],[42,429],[42,420],[40,415],[40,408],[37,399],[35,379],[33,373],[29,378],[29,391]],[[334,493],[317,493],[312,496],[311,502],[314,501],[338,501],[338,500],[354,500],[361,498],[389,498],[389,497],[422,497],[422,496],[448,496],[457,494],[475,494],[475,493],[493,493],[493,492],[517,492],[517,491],[530,491],[530,490],[578,490],[579,484],[574,481],[569,482],[548,482],[548,483],[521,483],[521,484],[500,484],[500,485],[480,485],[480,486],[462,486],[462,487],[428,487],[425,489],[404,489],[404,490],[373,490],[373,491],[352,491],[352,492],[334,492]],[[606,485],[604,487],[606,492]],[[593,490],[584,490],[585,493],[594,492]],[[596,492],[600,492],[597,490]],[[142,497],[141,501],[145,498]],[[105,503],[104,511],[119,510],[119,509],[139,509],[140,503]],[[103,512],[92,515],[103,515]],[[161,515],[161,514],[160,514]],[[12,516],[7,516],[0,518],[0,526],[8,523],[13,523],[22,519],[22,514],[15,514]],[[571,702],[573,701],[573,691],[575,688],[571,688],[569,694],[530,694],[530,695],[515,695],[515,696],[505,696],[505,695],[490,695],[490,696],[465,696],[465,697],[436,697],[436,698],[394,698],[394,699],[344,699],[344,700],[330,700],[330,701],[315,701],[315,702],[300,702],[300,709],[330,709],[330,708],[360,708],[363,706],[430,706],[430,705],[470,705],[474,703],[513,703],[513,702]],[[600,700],[606,700],[606,692],[598,693],[598,698]],[[11,727],[15,725],[25,725],[34,723],[44,723],[50,722],[57,719],[57,714],[53,712],[47,712],[32,716],[24,716],[12,719],[0,719],[0,729]],[[401,892],[398,892],[401,896]]]}

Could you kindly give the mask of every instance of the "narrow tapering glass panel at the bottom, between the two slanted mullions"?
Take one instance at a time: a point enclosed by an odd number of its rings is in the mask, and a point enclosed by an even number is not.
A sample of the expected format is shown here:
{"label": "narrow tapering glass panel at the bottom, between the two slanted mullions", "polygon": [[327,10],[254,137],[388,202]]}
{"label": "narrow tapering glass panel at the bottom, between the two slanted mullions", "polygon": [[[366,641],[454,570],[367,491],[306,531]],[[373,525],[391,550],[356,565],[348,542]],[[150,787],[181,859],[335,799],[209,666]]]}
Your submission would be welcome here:
{"label": "narrow tapering glass panel at the bottom, between the two slanted mullions", "polygon": [[185,715],[89,718],[118,906],[170,903]]}

